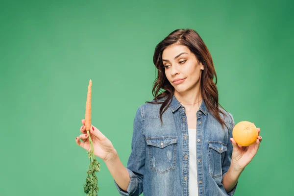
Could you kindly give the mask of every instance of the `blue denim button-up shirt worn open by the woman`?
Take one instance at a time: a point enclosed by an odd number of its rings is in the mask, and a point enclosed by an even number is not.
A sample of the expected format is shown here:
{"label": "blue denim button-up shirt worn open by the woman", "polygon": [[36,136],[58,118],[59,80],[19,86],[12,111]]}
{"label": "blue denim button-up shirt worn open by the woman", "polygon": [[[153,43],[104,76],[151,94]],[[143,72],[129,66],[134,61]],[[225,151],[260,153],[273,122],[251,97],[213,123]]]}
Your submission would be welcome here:
{"label": "blue denim button-up shirt worn open by the woman", "polygon": [[[173,96],[161,124],[160,106],[145,103],[136,112],[132,151],[127,163],[130,176],[127,191],[115,182],[123,196],[139,196],[143,191],[144,196],[189,196],[189,134],[185,107]],[[196,113],[198,179],[195,186],[198,186],[198,196],[232,196],[236,190],[237,185],[226,193],[222,185],[233,148],[230,138],[234,120],[230,113],[226,114],[221,115],[228,127],[223,129],[204,101]]]}

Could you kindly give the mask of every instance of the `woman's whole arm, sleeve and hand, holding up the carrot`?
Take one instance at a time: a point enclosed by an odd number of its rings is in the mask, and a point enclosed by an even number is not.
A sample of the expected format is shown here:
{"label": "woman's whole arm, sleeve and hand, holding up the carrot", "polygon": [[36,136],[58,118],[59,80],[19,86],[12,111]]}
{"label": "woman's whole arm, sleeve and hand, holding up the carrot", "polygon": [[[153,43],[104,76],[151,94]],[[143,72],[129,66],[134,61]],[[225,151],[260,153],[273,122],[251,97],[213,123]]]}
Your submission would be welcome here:
{"label": "woman's whole arm, sleeve and hand, holding up the carrot", "polygon": [[[93,141],[95,155],[100,157],[106,164],[109,172],[114,178],[115,184],[121,195],[139,196],[143,192],[143,174],[145,166],[145,136],[143,135],[143,118],[141,107],[137,110],[134,120],[134,131],[132,138],[132,152],[125,168],[121,162],[117,150],[94,125],[91,125],[91,138]],[[85,124],[85,120],[82,120]],[[80,128],[81,135],[76,137],[75,142],[80,147],[90,151],[89,135],[83,125]],[[80,139],[84,142],[80,142]]]}

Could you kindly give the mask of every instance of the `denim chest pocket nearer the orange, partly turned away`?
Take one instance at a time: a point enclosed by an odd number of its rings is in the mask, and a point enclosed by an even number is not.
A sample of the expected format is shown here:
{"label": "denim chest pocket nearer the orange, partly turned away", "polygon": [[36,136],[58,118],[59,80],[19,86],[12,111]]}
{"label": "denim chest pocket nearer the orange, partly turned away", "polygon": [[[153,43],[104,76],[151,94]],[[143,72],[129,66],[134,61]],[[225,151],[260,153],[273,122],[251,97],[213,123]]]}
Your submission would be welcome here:
{"label": "denim chest pocket nearer the orange, partly turned away", "polygon": [[209,174],[213,178],[220,178],[219,180],[221,180],[221,165],[227,147],[224,143],[219,141],[208,141],[208,147]]}

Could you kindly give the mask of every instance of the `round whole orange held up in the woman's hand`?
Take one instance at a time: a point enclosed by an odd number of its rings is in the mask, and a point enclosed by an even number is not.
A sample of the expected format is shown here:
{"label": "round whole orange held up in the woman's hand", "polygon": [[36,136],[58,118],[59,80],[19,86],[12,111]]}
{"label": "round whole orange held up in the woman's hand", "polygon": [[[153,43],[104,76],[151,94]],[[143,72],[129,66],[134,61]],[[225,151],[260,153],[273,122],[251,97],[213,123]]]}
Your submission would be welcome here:
{"label": "round whole orange held up in the woman's hand", "polygon": [[253,123],[241,121],[233,128],[233,138],[240,146],[250,146],[258,138],[257,128]]}

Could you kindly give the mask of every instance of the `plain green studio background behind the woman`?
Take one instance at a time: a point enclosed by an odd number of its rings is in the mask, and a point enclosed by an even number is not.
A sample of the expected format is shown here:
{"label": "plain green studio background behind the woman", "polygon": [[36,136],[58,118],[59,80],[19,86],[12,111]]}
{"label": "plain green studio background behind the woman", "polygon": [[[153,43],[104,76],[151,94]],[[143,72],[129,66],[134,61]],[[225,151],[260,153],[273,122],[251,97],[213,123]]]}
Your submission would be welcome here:
{"label": "plain green studio background behind the woman", "polygon": [[[137,108],[151,100],[158,44],[195,29],[221,105],[261,127],[236,196],[294,193],[291,0],[0,1],[1,196],[82,196],[89,159],[75,144],[93,80],[92,123],[126,166]],[[118,196],[101,159],[99,196]]]}

